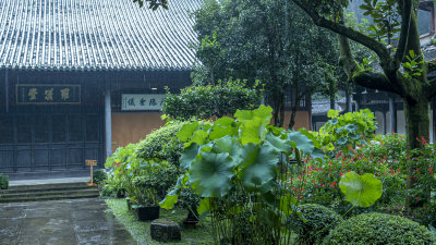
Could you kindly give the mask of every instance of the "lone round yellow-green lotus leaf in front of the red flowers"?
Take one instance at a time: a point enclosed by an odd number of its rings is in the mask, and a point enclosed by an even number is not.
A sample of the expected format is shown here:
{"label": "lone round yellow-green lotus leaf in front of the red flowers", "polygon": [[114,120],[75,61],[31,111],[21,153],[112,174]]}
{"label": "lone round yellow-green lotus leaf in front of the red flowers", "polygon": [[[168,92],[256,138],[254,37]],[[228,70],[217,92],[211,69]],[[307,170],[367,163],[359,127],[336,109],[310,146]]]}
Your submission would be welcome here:
{"label": "lone round yellow-green lotus leaf in front of the red flowers", "polygon": [[374,205],[383,194],[382,181],[371,173],[348,172],[341,177],[339,187],[346,194],[346,200],[362,208]]}

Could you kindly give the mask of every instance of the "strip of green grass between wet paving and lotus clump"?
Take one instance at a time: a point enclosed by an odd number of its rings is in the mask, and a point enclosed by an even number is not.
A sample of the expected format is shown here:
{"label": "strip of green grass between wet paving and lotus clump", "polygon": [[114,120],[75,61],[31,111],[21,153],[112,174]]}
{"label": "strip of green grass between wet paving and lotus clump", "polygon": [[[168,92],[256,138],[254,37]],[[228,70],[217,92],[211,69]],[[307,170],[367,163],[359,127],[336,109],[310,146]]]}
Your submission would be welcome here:
{"label": "strip of green grass between wet paving and lotus clump", "polygon": [[[153,241],[149,234],[152,221],[137,221],[136,217],[128,209],[125,199],[106,199],[106,204],[117,217],[117,219],[125,226],[138,244],[213,244],[214,240],[209,234],[207,223],[198,223],[196,229],[183,229],[181,225],[182,241],[161,243]],[[165,210],[160,209],[161,219],[168,219],[181,224],[182,219],[187,216],[187,211],[183,209]]]}

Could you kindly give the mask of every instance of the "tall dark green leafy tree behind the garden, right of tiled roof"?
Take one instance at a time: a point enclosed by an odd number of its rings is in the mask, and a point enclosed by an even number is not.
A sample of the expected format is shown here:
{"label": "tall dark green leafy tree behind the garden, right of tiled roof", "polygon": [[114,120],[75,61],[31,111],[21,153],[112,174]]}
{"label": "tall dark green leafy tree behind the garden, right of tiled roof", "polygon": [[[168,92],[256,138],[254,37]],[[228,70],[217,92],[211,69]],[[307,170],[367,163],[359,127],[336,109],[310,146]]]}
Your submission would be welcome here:
{"label": "tall dark green leafy tree behind the garden, right of tiled roof", "polygon": [[[197,50],[204,47],[207,50],[197,51],[196,58],[203,65],[195,68],[192,75],[195,81],[199,84],[209,84],[210,77],[241,78],[247,84],[261,81],[266,102],[277,112],[276,125],[284,123],[278,112],[284,110],[286,103],[298,107],[296,101],[307,94],[326,90],[337,79],[336,36],[312,24],[291,1],[206,0],[193,15],[202,47]],[[326,66],[332,69],[326,72]],[[289,88],[294,91],[293,101],[284,97]]]}

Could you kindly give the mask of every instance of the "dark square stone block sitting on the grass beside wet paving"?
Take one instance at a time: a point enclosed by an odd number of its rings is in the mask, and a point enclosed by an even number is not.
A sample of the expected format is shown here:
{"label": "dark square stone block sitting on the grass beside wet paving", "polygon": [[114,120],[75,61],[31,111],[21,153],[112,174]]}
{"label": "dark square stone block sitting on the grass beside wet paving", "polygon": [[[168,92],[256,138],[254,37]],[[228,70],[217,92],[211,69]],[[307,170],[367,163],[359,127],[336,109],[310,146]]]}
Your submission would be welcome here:
{"label": "dark square stone block sitting on the grass beside wet paving", "polygon": [[180,226],[174,221],[158,219],[152,222],[150,235],[153,240],[160,242],[180,241]]}

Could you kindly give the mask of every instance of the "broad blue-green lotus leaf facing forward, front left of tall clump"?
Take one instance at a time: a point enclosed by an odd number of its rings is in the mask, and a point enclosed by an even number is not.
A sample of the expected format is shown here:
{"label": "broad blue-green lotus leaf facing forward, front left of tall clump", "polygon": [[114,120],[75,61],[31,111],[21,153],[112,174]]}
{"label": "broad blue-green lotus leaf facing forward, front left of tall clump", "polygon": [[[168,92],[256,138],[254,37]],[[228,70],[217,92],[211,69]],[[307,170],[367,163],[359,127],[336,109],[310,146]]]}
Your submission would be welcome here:
{"label": "broad blue-green lotus leaf facing forward, front left of tall clump", "polygon": [[190,183],[203,197],[222,197],[231,188],[234,175],[228,152],[201,151],[191,166]]}

